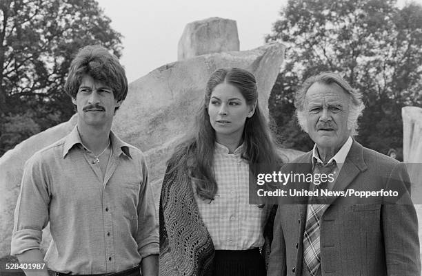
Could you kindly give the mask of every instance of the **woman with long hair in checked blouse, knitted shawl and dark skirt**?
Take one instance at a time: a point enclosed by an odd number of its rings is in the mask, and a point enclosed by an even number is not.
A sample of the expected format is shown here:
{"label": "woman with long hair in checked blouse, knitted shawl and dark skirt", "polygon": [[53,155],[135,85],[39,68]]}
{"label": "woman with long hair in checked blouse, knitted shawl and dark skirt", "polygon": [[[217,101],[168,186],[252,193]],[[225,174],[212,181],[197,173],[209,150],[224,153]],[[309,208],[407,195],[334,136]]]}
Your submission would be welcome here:
{"label": "woman with long hair in checked blouse, knitted shawl and dark skirt", "polygon": [[259,248],[272,231],[270,208],[249,204],[249,178],[279,163],[254,76],[236,67],[214,72],[194,134],[168,160],[160,275],[265,275]]}

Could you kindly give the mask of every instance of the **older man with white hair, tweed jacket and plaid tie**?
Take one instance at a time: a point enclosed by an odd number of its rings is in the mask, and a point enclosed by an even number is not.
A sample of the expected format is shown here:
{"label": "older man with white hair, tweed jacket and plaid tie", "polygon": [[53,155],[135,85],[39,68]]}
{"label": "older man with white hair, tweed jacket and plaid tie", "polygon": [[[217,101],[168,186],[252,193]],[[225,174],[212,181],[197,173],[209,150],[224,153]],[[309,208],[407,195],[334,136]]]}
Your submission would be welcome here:
{"label": "older man with white hair, tweed jacket and plaid tie", "polygon": [[[405,165],[353,139],[364,109],[361,98],[332,72],[308,78],[295,95],[299,125],[315,145],[281,171],[331,174],[334,180],[308,183],[310,191],[320,193],[301,204],[279,202],[268,275],[421,275]],[[337,193],[327,202],[321,189],[400,193],[370,200]]]}

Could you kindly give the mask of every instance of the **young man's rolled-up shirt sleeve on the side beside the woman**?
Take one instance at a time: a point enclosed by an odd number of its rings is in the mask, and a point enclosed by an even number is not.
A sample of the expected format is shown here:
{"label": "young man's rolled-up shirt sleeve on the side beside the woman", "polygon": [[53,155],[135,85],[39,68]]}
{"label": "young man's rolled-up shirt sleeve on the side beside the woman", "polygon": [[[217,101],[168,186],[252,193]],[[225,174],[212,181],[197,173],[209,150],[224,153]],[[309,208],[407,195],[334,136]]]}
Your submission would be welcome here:
{"label": "young man's rolled-up shirt sleeve on the side beside the woman", "polygon": [[154,196],[148,182],[148,168],[141,159],[143,180],[139,191],[137,244],[141,258],[159,254],[159,224],[154,204]]}

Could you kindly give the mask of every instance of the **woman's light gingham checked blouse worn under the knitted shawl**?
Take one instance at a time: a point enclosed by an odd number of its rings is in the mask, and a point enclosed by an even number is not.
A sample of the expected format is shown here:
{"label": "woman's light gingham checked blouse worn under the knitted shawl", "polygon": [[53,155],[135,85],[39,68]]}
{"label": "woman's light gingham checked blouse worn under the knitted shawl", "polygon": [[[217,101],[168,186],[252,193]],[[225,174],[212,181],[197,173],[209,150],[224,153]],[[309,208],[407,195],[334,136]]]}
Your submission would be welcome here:
{"label": "woman's light gingham checked blouse worn under the knitted shawl", "polygon": [[202,220],[217,250],[245,250],[263,246],[265,211],[249,204],[249,164],[241,158],[243,146],[233,154],[214,144],[215,199],[196,200]]}

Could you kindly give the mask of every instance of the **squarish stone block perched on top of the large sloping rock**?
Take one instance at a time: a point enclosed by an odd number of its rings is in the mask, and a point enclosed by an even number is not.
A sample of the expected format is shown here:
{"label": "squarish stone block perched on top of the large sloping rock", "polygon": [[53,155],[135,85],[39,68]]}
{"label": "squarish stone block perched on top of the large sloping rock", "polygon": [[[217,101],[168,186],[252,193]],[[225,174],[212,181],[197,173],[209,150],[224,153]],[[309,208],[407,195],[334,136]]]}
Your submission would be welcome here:
{"label": "squarish stone block perched on top of the large sloping rock", "polygon": [[239,51],[236,21],[212,17],[186,25],[179,40],[177,60],[230,51]]}

